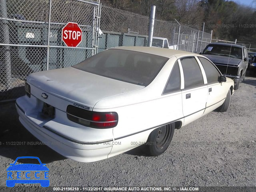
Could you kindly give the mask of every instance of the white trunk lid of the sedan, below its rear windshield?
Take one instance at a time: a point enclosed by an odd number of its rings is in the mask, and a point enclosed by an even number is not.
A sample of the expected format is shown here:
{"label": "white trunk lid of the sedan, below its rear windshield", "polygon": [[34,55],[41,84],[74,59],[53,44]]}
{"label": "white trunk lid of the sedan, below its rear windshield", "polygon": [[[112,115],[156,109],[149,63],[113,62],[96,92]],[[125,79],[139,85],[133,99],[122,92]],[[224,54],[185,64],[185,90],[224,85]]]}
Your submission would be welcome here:
{"label": "white trunk lid of the sedan, below its rear windshield", "polygon": [[45,99],[41,96],[44,97],[44,93],[51,94],[75,102],[80,105],[78,107],[89,107],[89,110],[92,110],[99,100],[144,88],[144,86],[106,78],[73,67],[33,73],[27,77],[27,81],[38,88],[35,89],[37,93],[33,93],[31,89],[31,94],[40,100],[47,102],[50,97]]}

